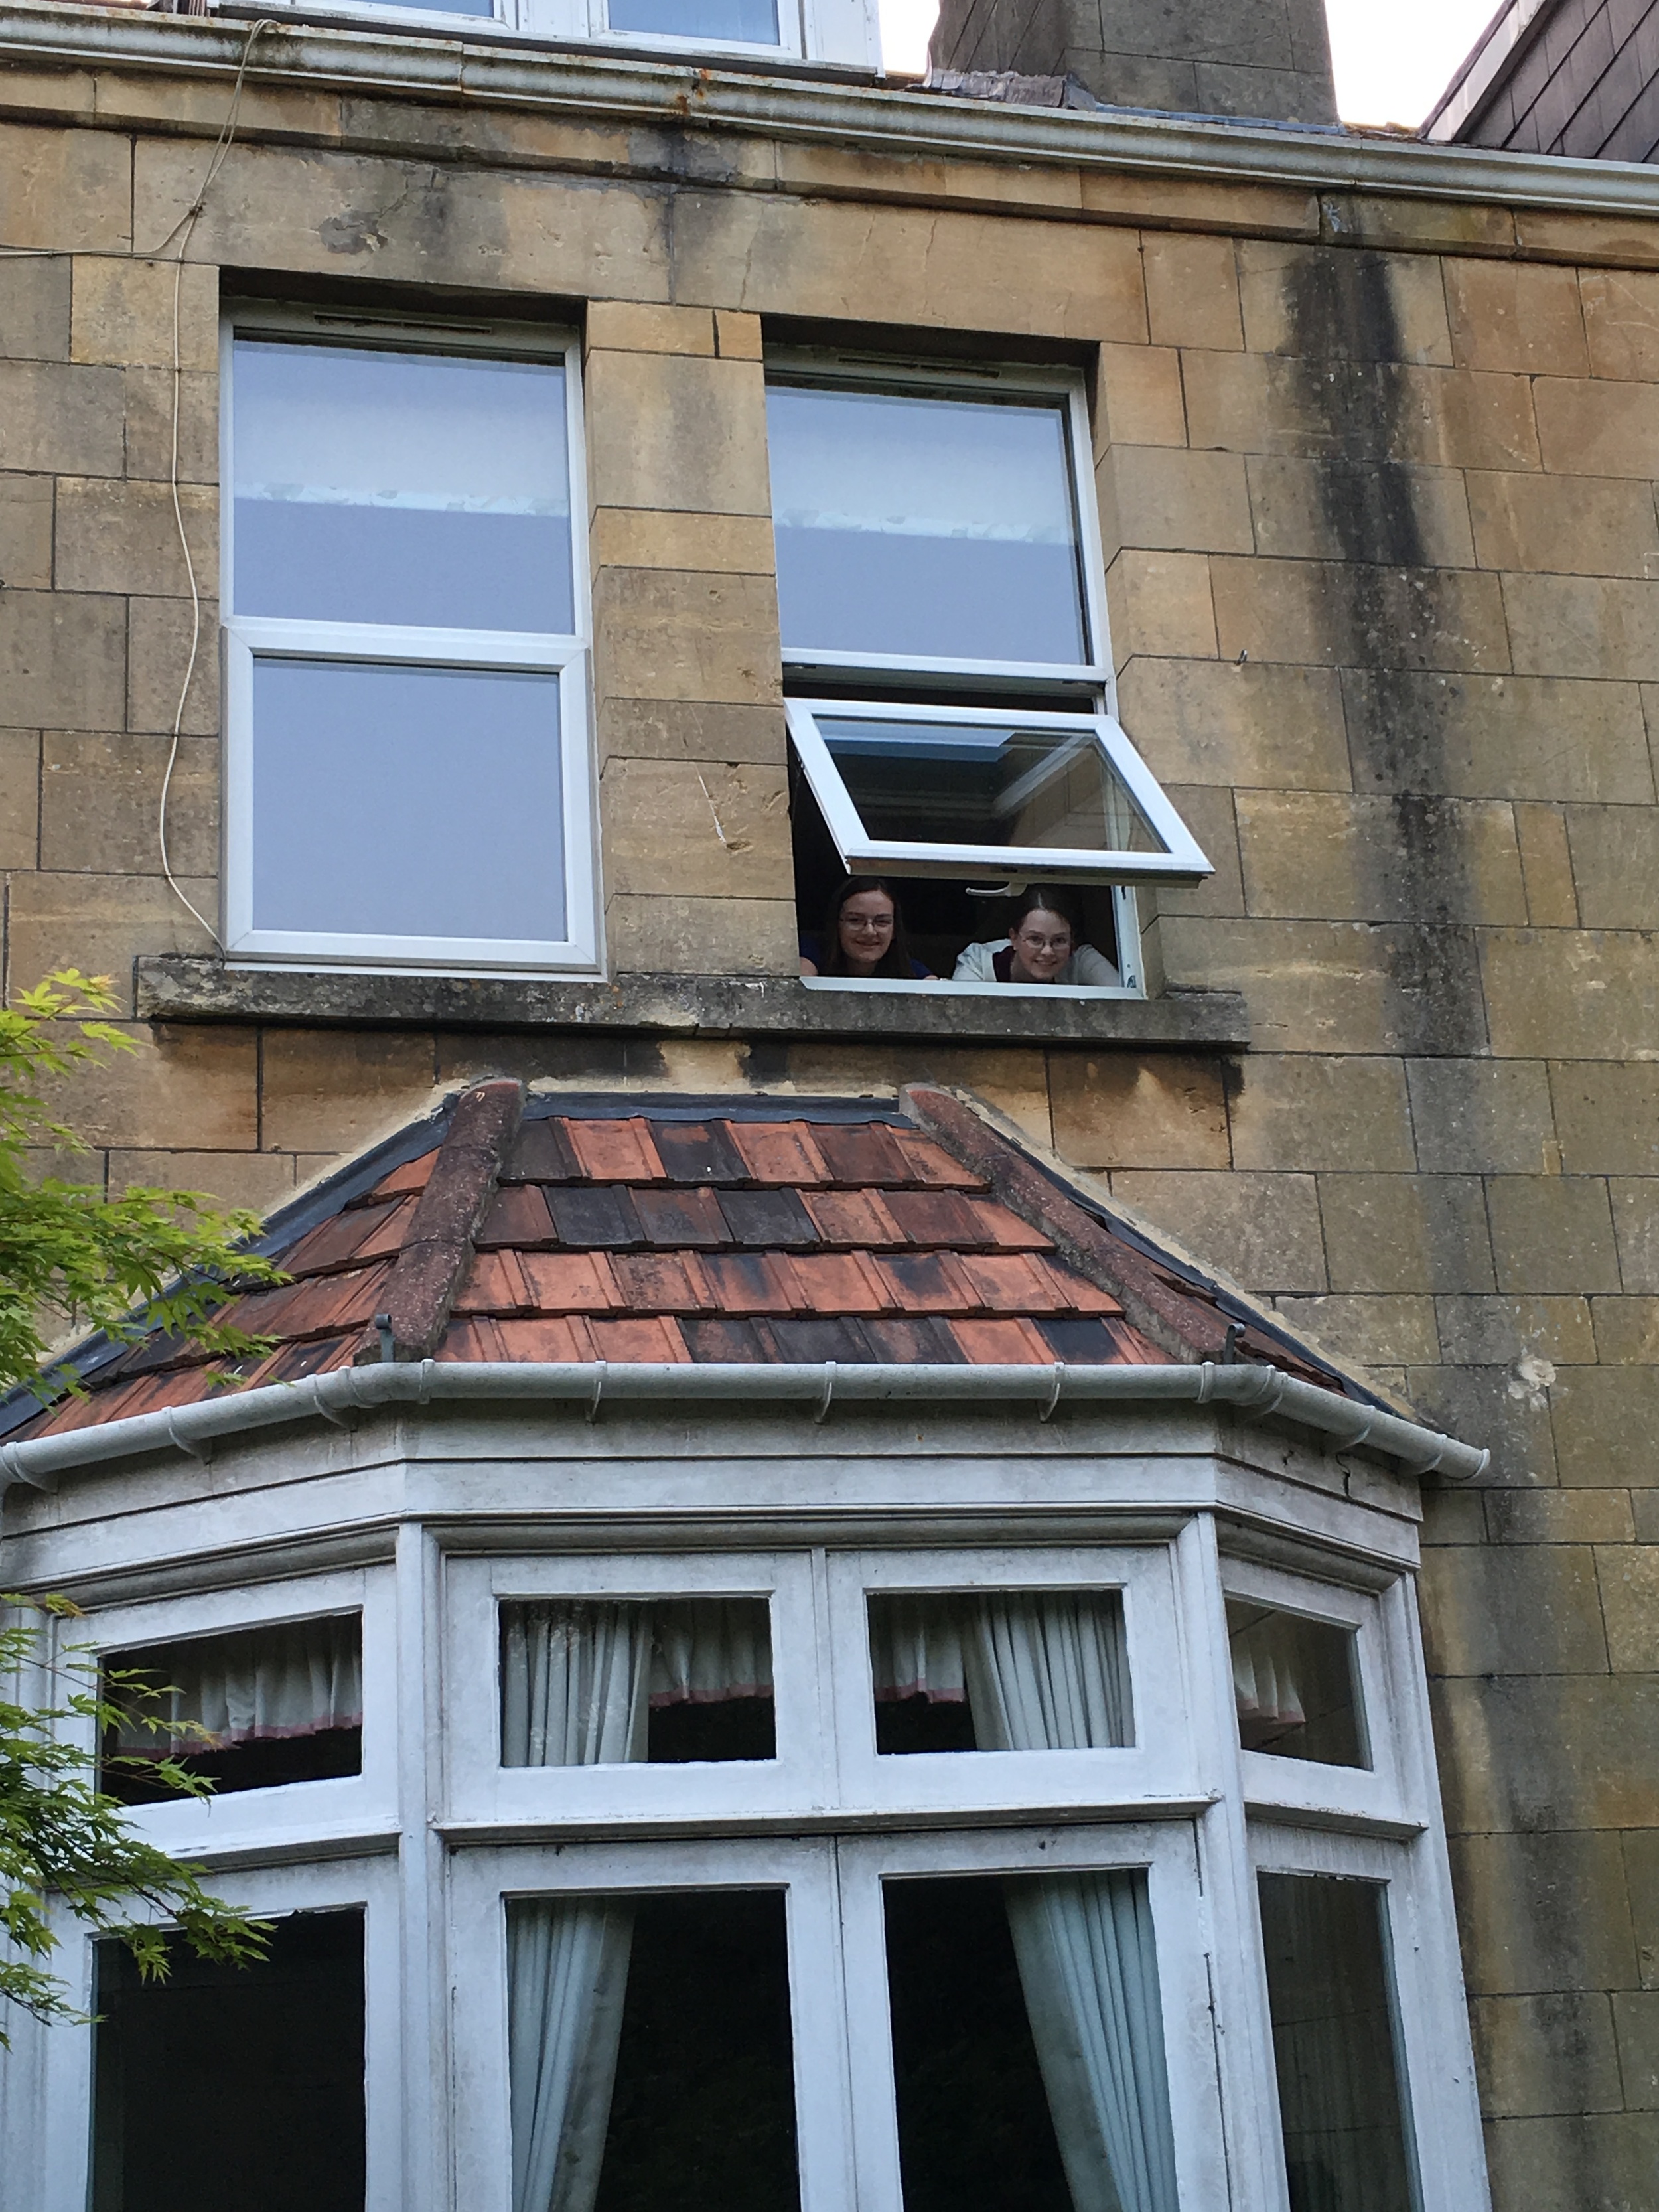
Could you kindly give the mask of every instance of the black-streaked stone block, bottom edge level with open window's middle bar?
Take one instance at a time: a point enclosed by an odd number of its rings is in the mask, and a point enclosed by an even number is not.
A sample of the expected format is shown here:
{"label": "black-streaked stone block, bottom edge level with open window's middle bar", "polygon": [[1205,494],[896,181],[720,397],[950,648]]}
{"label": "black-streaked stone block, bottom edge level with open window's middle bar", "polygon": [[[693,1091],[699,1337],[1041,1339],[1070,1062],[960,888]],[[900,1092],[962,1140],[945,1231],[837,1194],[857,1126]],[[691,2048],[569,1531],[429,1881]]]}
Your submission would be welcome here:
{"label": "black-streaked stone block, bottom edge level with open window's middle bar", "polygon": [[1509,668],[1495,575],[1230,555],[1214,555],[1210,575],[1217,650],[1230,661],[1248,655],[1325,668]]}

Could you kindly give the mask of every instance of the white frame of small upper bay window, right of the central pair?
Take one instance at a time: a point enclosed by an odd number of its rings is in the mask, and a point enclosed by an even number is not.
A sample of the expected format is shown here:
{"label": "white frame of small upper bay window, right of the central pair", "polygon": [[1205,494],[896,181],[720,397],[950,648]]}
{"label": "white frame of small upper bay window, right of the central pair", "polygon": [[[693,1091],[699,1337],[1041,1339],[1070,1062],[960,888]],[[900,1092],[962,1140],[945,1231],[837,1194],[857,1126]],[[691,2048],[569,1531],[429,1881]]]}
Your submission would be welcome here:
{"label": "white frame of small upper bay window, right of the central pair", "polygon": [[[975,1548],[830,1555],[834,1721],[845,1803],[885,1814],[1146,1812],[1203,1794],[1192,1750],[1168,1544],[1077,1551]],[[1135,1743],[1088,1752],[876,1752],[867,1599],[885,1595],[1102,1590],[1124,1606]]]}

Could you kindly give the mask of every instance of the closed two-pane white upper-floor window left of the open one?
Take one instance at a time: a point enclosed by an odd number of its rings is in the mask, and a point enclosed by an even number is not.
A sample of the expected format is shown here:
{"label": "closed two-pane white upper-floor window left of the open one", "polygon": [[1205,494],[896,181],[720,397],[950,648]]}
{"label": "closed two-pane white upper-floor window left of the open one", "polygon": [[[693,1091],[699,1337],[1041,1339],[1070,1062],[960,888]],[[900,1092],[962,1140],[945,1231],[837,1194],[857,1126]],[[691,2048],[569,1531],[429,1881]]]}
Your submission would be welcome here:
{"label": "closed two-pane white upper-floor window left of the open one", "polygon": [[573,343],[223,330],[226,951],[597,960]]}

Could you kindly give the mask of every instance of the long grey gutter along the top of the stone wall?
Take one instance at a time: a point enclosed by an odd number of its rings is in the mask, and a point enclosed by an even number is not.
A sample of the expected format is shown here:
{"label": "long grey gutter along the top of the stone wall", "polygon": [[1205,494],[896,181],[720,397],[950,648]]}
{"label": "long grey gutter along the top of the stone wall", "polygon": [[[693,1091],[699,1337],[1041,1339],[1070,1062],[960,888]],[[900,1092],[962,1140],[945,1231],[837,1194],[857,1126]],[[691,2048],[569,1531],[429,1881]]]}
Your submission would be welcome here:
{"label": "long grey gutter along the top of the stone wall", "polygon": [[[250,29],[192,15],[80,9],[64,0],[9,0],[0,7],[0,106],[7,62],[33,64],[35,71],[42,62],[58,62],[64,69],[139,69],[230,82]],[[887,86],[699,69],[695,62],[617,60],[551,46],[526,51],[484,35],[434,38],[279,22],[259,33],[248,82],[294,84],[307,93],[332,88],[354,97],[387,93],[467,106],[564,111],[584,119],[657,124],[666,131],[684,131],[690,122],[856,146],[887,159],[931,155],[1066,164],[1307,192],[1389,192],[1597,215],[1659,215],[1659,170],[1641,161],[1573,161],[1562,155],[1431,146],[1422,139],[1360,133],[1303,133],[1281,124],[1190,122],[1110,108],[1015,108]],[[33,88],[29,104],[42,104]],[[95,124],[97,111],[77,111],[73,119]],[[199,128],[210,133],[212,119]]]}

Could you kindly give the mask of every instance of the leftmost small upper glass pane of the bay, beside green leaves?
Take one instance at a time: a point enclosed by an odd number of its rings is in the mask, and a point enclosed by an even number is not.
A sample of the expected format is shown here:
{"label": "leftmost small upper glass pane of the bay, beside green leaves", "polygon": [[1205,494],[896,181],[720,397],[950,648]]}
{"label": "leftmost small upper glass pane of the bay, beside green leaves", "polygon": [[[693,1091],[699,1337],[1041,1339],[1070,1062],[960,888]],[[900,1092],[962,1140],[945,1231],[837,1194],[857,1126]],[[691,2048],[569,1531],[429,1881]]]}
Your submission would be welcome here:
{"label": "leftmost small upper glass pane of the bay, beside green leaves", "polygon": [[177,1798],[146,1772],[157,1759],[219,1792],[363,1770],[354,1613],[106,1652],[100,1681],[124,1717],[104,1730],[100,1787],[124,1805]]}

